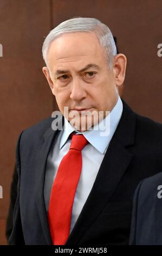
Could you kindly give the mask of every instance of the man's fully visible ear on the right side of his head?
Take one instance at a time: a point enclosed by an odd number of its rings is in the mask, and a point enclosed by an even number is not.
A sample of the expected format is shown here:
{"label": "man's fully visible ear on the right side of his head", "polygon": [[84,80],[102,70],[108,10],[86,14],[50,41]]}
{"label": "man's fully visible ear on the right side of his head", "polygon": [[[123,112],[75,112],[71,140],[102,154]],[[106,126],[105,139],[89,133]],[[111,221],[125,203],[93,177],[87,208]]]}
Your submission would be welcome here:
{"label": "man's fully visible ear on the right side of his head", "polygon": [[127,58],[124,54],[119,53],[114,57],[113,72],[116,86],[121,86],[125,80]]}

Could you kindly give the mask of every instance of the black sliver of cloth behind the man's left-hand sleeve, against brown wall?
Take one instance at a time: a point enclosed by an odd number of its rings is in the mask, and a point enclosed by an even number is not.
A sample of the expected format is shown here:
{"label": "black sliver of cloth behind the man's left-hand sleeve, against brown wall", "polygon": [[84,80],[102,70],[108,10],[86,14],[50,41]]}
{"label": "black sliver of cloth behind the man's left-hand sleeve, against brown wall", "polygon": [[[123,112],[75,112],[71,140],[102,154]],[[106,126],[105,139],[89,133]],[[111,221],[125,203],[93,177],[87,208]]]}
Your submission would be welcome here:
{"label": "black sliver of cloth behind the man's left-hand sleeve, against brown wall", "polygon": [[12,177],[12,183],[10,188],[10,206],[9,206],[9,212],[7,217],[6,229],[5,229],[5,235],[7,237],[7,240],[9,240],[9,236],[11,235],[11,231],[13,228],[13,212],[14,212],[14,206],[17,198],[17,183],[18,183],[18,174],[17,174],[16,164],[15,164],[14,174]]}

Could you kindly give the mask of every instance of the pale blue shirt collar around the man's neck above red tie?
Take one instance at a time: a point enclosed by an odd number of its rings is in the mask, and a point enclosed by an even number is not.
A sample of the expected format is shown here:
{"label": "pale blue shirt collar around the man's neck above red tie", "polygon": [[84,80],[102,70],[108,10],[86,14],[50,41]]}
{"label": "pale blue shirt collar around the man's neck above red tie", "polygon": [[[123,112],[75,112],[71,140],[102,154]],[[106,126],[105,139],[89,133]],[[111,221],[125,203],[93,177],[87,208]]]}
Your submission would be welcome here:
{"label": "pale blue shirt collar around the man's neck above red tie", "polygon": [[[92,144],[93,147],[95,147],[98,151],[100,151],[101,154],[105,154],[108,144],[111,141],[116,127],[119,124],[122,109],[123,105],[119,96],[118,101],[113,107],[112,111],[104,119],[102,119],[100,123],[93,126],[92,130],[85,132],[75,130],[75,127],[72,126],[64,117],[64,130],[61,136],[60,149],[66,143],[70,133],[76,131],[76,133],[83,134],[87,141]],[[108,124],[108,126],[106,124]],[[104,127],[106,127],[107,130],[103,130]]]}

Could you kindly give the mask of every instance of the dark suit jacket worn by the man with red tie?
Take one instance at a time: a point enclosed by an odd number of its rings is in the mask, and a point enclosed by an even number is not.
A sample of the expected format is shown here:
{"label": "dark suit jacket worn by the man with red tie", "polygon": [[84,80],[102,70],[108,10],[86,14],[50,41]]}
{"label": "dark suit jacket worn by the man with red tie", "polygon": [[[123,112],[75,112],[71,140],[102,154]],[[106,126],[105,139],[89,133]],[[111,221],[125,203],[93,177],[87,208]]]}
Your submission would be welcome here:
{"label": "dark suit jacket worn by the man with red tie", "polygon": [[[162,125],[123,104],[119,125],[66,245],[128,244],[135,188],[142,179],[161,172]],[[10,245],[52,243],[43,185],[47,156],[59,133],[51,129],[53,120],[30,127],[18,138],[18,195]]]}

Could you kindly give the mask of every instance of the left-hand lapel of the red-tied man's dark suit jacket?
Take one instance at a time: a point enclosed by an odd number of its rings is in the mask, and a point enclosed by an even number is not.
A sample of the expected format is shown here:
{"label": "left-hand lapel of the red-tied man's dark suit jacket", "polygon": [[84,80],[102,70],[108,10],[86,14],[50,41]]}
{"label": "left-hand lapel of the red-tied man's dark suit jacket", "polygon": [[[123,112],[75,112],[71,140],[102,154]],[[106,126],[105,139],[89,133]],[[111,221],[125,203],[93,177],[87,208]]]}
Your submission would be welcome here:
{"label": "left-hand lapel of the red-tied man's dark suit jacket", "polygon": [[[51,119],[51,123],[52,121],[53,120]],[[59,127],[60,127],[60,124],[62,124],[62,122],[63,122],[63,117],[61,115],[58,120]],[[54,143],[59,133],[59,130],[54,131],[53,129],[51,129],[51,123],[50,123],[50,128],[40,138],[37,151],[36,151],[36,161],[35,161],[36,203],[37,203],[38,213],[40,215],[40,221],[41,221],[43,233],[48,245],[52,245],[52,241],[51,241],[50,230],[48,225],[46,205],[44,202],[44,180],[45,180],[46,162],[47,162],[49,150],[50,150],[51,144]]]}

